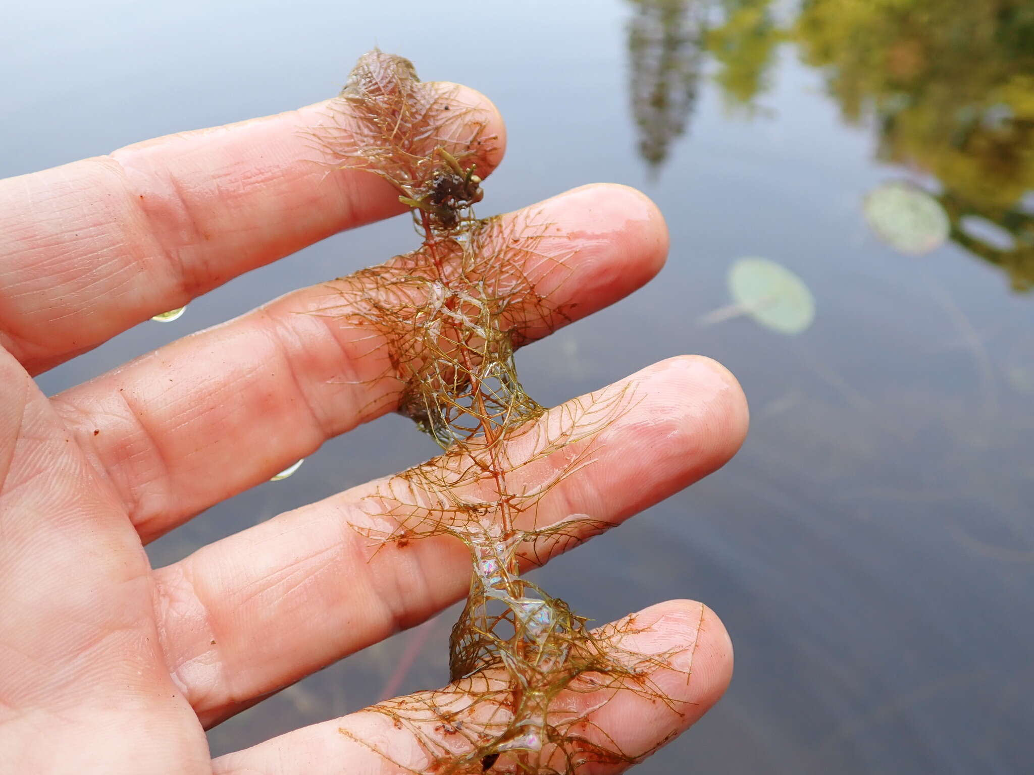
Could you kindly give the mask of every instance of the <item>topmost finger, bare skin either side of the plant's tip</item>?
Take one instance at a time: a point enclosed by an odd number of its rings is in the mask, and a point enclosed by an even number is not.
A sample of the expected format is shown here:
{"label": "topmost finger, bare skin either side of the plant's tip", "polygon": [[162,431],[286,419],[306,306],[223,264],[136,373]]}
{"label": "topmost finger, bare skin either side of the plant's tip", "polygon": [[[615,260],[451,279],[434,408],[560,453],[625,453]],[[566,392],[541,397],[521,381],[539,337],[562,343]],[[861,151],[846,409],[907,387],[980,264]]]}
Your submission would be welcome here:
{"label": "topmost finger, bare skin either side of the plant's tip", "polygon": [[[436,85],[498,163],[503,125],[472,90]],[[314,148],[348,103],[128,146],[0,181],[0,344],[38,373],[231,278],[403,210],[398,192]]]}

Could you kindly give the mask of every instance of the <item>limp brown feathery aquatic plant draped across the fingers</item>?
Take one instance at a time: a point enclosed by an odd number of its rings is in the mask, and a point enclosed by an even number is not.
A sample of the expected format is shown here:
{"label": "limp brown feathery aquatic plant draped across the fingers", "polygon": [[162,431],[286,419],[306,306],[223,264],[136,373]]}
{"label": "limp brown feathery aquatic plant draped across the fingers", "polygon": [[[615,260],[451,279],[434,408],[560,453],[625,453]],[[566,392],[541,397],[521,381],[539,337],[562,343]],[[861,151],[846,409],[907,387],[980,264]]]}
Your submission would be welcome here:
{"label": "limp brown feathery aquatic plant draped across the fingers", "polygon": [[[621,750],[594,714],[618,692],[679,713],[650,679],[675,670],[675,653],[622,648],[639,631],[634,617],[592,630],[521,572],[607,527],[582,514],[540,524],[538,506],[591,464],[599,431],[635,402],[634,390],[547,414],[521,385],[514,351],[531,327],[564,318],[537,288],[544,276],[550,287],[562,282],[565,265],[539,250],[551,228],[541,217],[475,217],[479,160],[496,138],[474,109],[379,51],[360,59],[339,99],[342,110],[312,131],[328,163],[391,183],[422,245],[332,283],[321,314],[369,332],[364,357],[393,384],[381,400],[443,447],[367,497],[357,529],[377,551],[451,536],[468,548],[473,568],[450,642],[452,683],[368,710],[408,730],[429,763],[421,772],[622,769],[653,748]],[[392,761],[376,741],[356,740]]]}

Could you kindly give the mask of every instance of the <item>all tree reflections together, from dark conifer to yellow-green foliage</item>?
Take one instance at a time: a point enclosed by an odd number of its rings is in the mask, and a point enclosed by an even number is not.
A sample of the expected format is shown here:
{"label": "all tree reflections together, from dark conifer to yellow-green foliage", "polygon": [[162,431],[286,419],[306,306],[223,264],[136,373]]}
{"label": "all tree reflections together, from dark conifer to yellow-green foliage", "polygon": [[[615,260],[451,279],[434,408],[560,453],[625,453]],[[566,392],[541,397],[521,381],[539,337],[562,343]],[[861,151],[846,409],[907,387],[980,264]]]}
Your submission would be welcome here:
{"label": "all tree reflections together, from dark conifer to yellow-green foliage", "polygon": [[[822,68],[845,120],[879,133],[879,158],[936,177],[950,238],[1034,288],[1034,3],[802,0],[781,26],[771,0],[634,0],[630,49],[641,152],[685,131],[701,52],[731,104],[753,106],[781,41]],[[679,92],[679,90],[682,90]],[[1011,237],[991,244],[978,216]]]}

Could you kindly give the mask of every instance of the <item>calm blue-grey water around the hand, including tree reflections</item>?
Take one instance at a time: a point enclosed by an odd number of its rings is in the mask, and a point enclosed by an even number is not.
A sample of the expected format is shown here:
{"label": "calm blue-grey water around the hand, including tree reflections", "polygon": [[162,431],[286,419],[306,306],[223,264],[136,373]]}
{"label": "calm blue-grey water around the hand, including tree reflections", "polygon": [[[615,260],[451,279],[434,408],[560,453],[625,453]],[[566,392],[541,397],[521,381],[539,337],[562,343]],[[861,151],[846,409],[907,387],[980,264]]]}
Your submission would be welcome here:
{"label": "calm blue-grey water around the hand, including tree reflections", "polygon": [[[377,43],[501,110],[508,158],[481,212],[592,181],[643,188],[671,226],[660,280],[520,357],[549,403],[679,352],[725,363],[751,401],[732,464],[539,574],[599,620],[692,596],[728,626],[729,693],[639,771],[1032,767],[1030,3],[110,0],[7,17],[5,175],[315,101]],[[862,215],[865,195],[895,180],[949,218],[949,239],[924,255],[881,241]],[[56,392],[410,246],[397,219],[340,235],[43,382]],[[744,315],[700,323],[730,304],[727,272],[750,255],[811,288],[805,332]],[[294,477],[210,509],[152,558],[173,561],[428,452],[403,421],[378,421]],[[402,690],[444,680],[450,620],[431,625]],[[224,723],[213,751],[362,707],[412,638]]]}

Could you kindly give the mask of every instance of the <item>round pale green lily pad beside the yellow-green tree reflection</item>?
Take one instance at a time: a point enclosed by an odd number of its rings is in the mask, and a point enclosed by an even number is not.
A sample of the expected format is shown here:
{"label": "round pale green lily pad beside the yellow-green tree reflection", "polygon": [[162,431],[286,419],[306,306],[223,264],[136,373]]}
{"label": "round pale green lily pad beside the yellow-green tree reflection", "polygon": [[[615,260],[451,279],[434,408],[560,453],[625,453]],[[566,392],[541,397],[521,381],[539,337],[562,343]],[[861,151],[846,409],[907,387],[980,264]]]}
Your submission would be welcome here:
{"label": "round pale green lily pad beside the yellow-green tree reflection", "polygon": [[951,230],[941,204],[918,186],[904,181],[877,186],[865,197],[862,212],[881,240],[911,255],[940,247]]}

